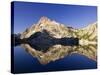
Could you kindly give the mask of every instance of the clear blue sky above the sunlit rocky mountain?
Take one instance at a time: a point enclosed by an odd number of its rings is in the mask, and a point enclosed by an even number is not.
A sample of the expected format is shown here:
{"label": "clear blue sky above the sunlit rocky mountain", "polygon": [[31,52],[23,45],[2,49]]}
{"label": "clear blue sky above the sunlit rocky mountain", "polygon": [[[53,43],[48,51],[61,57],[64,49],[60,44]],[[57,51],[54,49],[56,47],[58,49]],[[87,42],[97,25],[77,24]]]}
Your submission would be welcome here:
{"label": "clear blue sky above the sunlit rocky mountain", "polygon": [[82,28],[97,21],[97,7],[15,2],[14,33],[23,32],[42,16],[73,28]]}

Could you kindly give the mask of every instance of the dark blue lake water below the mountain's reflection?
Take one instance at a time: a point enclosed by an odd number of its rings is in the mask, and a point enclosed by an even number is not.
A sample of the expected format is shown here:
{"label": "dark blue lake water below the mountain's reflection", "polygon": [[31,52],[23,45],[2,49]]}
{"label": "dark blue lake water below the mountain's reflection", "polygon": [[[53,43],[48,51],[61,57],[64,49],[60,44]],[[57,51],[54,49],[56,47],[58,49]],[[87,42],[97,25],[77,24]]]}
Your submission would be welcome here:
{"label": "dark blue lake water below the mountain's reflection", "polygon": [[15,73],[94,69],[96,66],[95,61],[79,54],[73,54],[47,65],[41,65],[36,58],[33,58],[20,46],[14,48]]}

